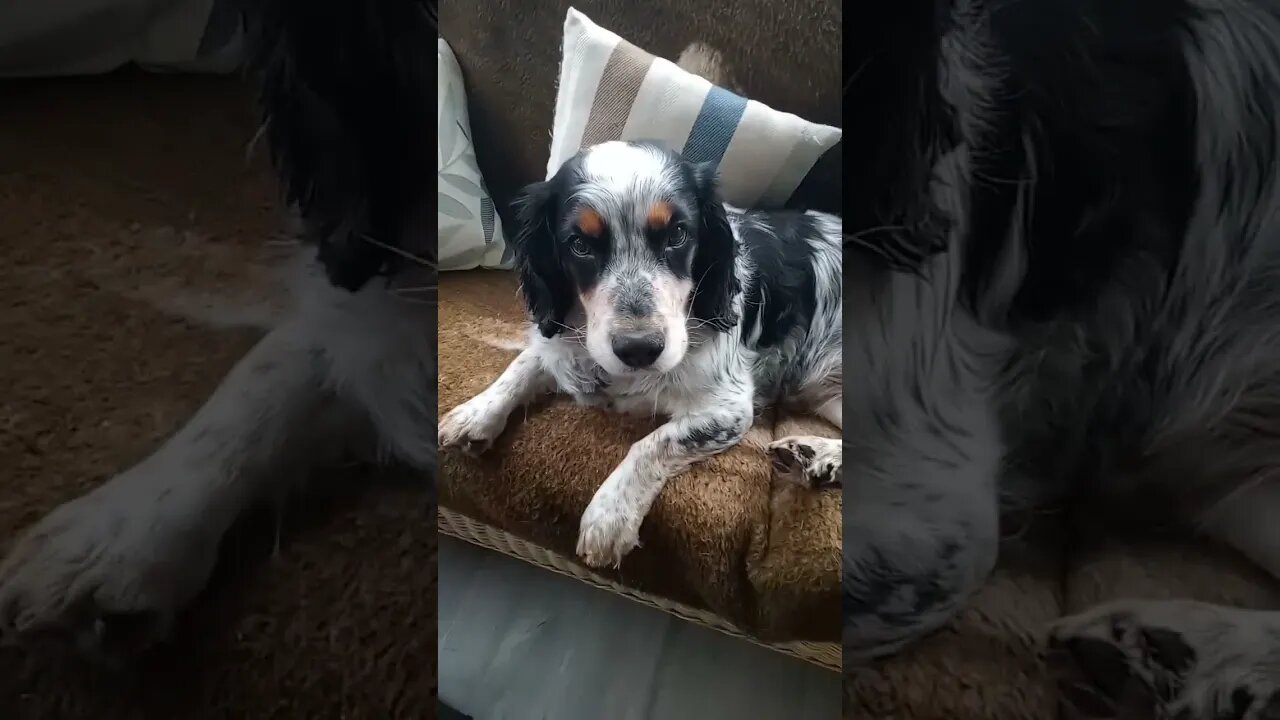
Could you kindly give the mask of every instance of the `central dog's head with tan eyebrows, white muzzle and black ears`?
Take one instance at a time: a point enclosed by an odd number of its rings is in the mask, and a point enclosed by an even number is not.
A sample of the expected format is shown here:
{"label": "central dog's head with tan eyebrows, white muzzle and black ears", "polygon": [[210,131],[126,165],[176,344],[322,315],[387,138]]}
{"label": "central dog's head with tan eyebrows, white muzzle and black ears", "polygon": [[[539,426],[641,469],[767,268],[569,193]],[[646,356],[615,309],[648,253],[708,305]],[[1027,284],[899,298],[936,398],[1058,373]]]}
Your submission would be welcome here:
{"label": "central dog's head with tan eyebrows, white muzzle and black ears", "polygon": [[516,200],[512,249],[545,337],[573,334],[605,372],[669,372],[690,329],[736,322],[735,240],[716,170],[654,145],[579,152]]}

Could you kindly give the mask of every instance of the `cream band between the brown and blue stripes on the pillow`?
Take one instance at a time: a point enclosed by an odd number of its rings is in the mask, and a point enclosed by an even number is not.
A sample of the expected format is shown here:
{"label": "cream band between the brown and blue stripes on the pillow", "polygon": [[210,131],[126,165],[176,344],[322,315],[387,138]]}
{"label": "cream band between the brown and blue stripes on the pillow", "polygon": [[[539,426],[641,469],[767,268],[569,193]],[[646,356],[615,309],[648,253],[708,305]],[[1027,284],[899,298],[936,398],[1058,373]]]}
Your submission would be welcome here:
{"label": "cream band between the brown and blue stripes on the pillow", "polygon": [[622,137],[657,140],[678,151],[689,140],[710,88],[710,82],[686,73],[671,60],[654,58]]}

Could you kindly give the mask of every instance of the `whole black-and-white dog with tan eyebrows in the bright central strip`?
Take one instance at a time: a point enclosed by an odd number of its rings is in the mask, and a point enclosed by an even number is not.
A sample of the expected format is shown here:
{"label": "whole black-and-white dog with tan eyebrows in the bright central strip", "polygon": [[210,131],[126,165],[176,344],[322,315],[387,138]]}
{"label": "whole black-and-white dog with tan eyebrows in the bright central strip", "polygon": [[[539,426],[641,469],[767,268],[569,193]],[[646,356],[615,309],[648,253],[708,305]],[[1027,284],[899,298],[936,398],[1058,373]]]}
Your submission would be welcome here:
{"label": "whole black-and-white dog with tan eyebrows in the bright central strip", "polygon": [[[579,151],[516,206],[530,345],[440,419],[438,445],[483,452],[552,391],[668,416],[584,511],[589,566],[620,566],[666,482],[733,447],[762,406],[785,397],[840,427],[838,218],[730,208],[712,164],[622,141]],[[771,451],[806,484],[836,487],[838,447],[785,438]]]}

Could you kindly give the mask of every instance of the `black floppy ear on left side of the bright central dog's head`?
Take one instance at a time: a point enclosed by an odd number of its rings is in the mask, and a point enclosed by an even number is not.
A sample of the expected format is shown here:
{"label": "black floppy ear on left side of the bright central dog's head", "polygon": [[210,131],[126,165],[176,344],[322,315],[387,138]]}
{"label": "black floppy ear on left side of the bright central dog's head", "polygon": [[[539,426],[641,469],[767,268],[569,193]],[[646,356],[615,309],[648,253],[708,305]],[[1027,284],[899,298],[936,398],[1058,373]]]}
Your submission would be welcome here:
{"label": "black floppy ear on left side of the bright central dog's head", "polygon": [[543,337],[561,332],[573,306],[570,279],[556,249],[556,202],[549,182],[525,187],[512,202],[516,232],[511,237],[511,250],[525,304]]}

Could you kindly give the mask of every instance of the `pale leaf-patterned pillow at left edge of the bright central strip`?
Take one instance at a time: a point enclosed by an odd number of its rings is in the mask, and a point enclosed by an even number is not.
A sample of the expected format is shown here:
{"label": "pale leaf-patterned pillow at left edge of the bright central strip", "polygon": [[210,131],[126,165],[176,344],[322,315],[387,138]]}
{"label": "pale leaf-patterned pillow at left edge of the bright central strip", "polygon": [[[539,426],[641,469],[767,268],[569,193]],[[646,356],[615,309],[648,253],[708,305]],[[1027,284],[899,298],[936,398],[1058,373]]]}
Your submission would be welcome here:
{"label": "pale leaf-patterned pillow at left edge of the bright central strip", "polygon": [[436,40],[439,135],[436,190],[440,270],[509,269],[502,220],[494,211],[471,145],[471,118],[462,68],[453,50]]}

